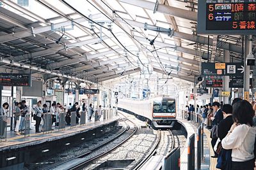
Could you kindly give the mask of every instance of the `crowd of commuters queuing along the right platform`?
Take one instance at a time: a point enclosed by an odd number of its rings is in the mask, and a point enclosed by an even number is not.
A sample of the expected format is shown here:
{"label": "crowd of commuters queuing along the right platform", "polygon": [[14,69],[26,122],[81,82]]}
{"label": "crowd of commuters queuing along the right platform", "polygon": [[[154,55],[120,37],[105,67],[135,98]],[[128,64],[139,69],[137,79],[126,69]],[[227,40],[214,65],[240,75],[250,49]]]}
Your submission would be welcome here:
{"label": "crowd of commuters queuing along the right platform", "polygon": [[217,168],[225,170],[253,170],[256,158],[256,103],[240,98],[232,104],[209,103],[205,106],[186,106],[188,120],[191,113],[202,115],[203,123],[211,129],[212,158]]}

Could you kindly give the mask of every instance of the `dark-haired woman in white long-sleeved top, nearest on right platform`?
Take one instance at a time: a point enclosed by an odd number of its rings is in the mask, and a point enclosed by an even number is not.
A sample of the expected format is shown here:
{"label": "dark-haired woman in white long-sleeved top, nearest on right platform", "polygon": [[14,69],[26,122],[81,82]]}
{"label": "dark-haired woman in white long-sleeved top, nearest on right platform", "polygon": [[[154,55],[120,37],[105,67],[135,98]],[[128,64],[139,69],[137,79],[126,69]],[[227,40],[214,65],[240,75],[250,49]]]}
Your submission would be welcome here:
{"label": "dark-haired woman in white long-sleeved top, nearest on right platform", "polygon": [[252,105],[246,100],[238,101],[233,106],[234,124],[221,141],[224,149],[232,150],[232,170],[254,169],[253,151],[256,135],[256,127],[252,126],[254,115]]}

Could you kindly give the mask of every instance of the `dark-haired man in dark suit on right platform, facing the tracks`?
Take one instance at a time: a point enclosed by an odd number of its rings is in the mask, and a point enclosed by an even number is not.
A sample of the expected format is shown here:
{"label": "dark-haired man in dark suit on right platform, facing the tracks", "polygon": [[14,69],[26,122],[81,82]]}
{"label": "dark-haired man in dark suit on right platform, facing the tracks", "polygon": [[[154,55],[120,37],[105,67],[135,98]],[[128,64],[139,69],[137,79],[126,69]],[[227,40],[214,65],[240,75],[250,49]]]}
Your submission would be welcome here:
{"label": "dark-haired man in dark suit on right platform, facing the tracks", "polygon": [[[220,124],[220,121],[223,120],[223,114],[220,110],[220,103],[214,102],[212,103],[212,109],[215,112],[214,117],[212,117],[212,126]],[[216,144],[217,139],[212,139],[211,144],[212,148],[214,148],[214,145]],[[213,158],[218,158],[218,154],[214,151],[214,156],[211,156]]]}

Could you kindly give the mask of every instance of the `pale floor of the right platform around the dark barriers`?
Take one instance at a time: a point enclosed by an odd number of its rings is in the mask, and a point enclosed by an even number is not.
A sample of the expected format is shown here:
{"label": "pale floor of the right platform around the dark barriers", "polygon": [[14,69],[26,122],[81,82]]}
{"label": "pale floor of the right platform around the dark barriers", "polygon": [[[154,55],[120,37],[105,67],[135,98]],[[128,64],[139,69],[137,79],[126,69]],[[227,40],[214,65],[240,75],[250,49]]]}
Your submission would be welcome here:
{"label": "pale floor of the right platform around the dark barriers", "polygon": [[[184,127],[186,128],[186,131],[188,132],[186,145],[184,146],[183,150],[180,152],[180,169],[188,169],[188,138],[192,134],[195,134],[195,139],[196,139],[196,129],[197,128],[195,125],[193,125],[191,122],[189,122],[187,120],[183,120],[182,118],[177,118],[177,120],[182,125],[184,125]],[[204,158],[203,158],[204,161],[201,162],[201,169],[204,169],[204,170],[211,169],[211,166],[210,166],[210,164],[211,164],[210,156],[211,155],[210,155],[209,146],[211,146],[211,141],[210,141],[210,145],[209,145],[208,140],[207,140],[207,134],[205,134],[205,132],[204,132]],[[195,169],[197,169],[197,167],[196,167],[196,162],[197,162],[196,149],[197,149],[197,144],[196,144],[196,140],[195,140]]]}

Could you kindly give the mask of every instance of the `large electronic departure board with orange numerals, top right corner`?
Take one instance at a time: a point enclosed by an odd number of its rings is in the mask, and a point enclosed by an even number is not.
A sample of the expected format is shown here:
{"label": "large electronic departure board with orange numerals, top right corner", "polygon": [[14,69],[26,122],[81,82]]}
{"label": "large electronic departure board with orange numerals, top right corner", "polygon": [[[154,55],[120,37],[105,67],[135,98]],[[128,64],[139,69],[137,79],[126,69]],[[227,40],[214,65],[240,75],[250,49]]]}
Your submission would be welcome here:
{"label": "large electronic departure board with orange numerals, top right corner", "polygon": [[199,34],[255,34],[256,0],[198,1]]}

